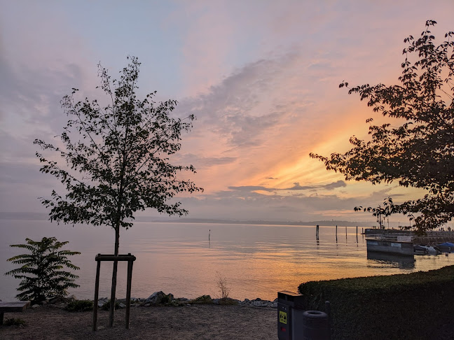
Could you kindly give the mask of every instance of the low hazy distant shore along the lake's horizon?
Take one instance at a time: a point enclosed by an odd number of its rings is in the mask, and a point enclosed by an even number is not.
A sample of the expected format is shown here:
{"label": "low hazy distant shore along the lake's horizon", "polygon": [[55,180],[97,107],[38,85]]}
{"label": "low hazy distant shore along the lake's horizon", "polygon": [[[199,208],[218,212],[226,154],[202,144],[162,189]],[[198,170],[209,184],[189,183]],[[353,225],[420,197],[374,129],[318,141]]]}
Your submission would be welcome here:
{"label": "low hazy distant shore along the lake's horizon", "polygon": [[[0,220],[40,220],[46,221],[49,219],[47,213],[29,213],[29,212],[0,212]],[[358,221],[350,222],[343,220],[318,220],[318,221],[267,221],[267,220],[216,220],[207,218],[165,218],[153,216],[137,216],[134,222],[170,222],[170,223],[212,223],[212,224],[228,224],[228,225],[301,225],[314,226],[322,225],[326,227],[373,227],[376,222]]]}

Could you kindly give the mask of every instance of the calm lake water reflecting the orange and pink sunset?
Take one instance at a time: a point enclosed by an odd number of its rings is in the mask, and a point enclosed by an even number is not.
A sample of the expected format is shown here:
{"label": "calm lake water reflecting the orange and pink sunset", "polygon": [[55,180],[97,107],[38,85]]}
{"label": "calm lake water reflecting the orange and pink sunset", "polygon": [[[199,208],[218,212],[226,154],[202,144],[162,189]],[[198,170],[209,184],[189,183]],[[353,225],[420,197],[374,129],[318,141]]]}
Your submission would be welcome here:
{"label": "calm lake water reflecting the orange and pink sunset", "polygon": [[[114,231],[48,221],[0,220],[0,273],[15,268],[6,262],[7,258],[23,253],[20,248],[10,248],[10,244],[43,236],[69,241],[67,249],[82,253],[72,258],[81,267],[76,273],[81,287],[71,293],[79,299],[92,299],[95,256],[113,253]],[[133,297],[148,297],[157,290],[175,297],[216,296],[219,271],[228,281],[231,297],[272,300],[277,291],[296,292],[305,281],[425,271],[454,263],[454,254],[415,256],[414,261],[376,255],[368,259],[366,241],[359,234],[357,242],[355,227],[348,227],[347,236],[345,227],[339,227],[336,243],[336,227],[322,226],[317,242],[312,226],[136,222],[132,229],[121,231],[120,253],[137,257]],[[11,276],[0,276],[0,299],[13,299],[18,282]],[[100,297],[110,295],[110,285],[111,264],[102,262]],[[124,262],[119,262],[117,287],[117,296],[125,297]]]}

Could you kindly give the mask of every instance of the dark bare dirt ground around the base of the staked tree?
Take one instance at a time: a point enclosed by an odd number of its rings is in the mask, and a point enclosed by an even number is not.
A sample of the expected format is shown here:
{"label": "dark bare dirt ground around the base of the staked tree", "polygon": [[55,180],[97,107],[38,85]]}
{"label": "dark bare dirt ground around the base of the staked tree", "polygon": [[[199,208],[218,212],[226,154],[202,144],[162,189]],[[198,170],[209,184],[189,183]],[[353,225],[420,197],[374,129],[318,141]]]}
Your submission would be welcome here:
{"label": "dark bare dirt ground around the base of the staked tree", "polygon": [[108,327],[109,311],[98,311],[98,330],[92,332],[92,311],[69,312],[55,306],[5,313],[21,318],[23,327],[0,327],[2,340],[72,339],[277,339],[277,312],[245,306],[191,305],[131,307],[130,329],[125,309],[116,311]]}

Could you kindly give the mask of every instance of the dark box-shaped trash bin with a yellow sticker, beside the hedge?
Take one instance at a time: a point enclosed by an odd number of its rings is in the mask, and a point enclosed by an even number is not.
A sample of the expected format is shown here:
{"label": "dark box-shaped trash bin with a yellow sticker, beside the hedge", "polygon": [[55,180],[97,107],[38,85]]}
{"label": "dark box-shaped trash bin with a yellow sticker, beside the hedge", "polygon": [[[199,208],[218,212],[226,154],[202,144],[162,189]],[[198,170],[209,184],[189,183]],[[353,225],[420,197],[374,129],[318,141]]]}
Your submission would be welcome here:
{"label": "dark box-shaped trash bin with a yellow sticker, beside the hedge", "polygon": [[[303,312],[303,295],[294,292],[277,292],[277,338],[279,340],[301,339],[295,336],[294,330],[298,329],[294,321],[294,314]],[[301,323],[301,320],[298,321]],[[302,333],[301,333],[302,334]]]}

